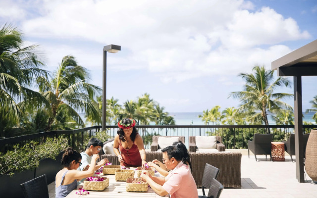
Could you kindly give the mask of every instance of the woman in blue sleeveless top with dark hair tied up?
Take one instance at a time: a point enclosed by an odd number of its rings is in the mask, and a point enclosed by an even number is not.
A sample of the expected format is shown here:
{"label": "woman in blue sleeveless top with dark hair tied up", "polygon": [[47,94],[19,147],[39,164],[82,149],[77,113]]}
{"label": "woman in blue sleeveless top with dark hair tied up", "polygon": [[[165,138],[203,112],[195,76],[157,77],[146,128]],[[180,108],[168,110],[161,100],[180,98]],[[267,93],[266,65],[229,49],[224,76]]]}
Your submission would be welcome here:
{"label": "woman in blue sleeveless top with dark hair tied up", "polygon": [[89,165],[88,170],[80,171],[77,168],[81,165],[81,154],[73,148],[67,148],[63,154],[61,169],[55,177],[55,198],[64,198],[72,190],[77,188],[77,180],[91,177],[95,173],[96,160],[99,158],[98,154],[94,154]]}

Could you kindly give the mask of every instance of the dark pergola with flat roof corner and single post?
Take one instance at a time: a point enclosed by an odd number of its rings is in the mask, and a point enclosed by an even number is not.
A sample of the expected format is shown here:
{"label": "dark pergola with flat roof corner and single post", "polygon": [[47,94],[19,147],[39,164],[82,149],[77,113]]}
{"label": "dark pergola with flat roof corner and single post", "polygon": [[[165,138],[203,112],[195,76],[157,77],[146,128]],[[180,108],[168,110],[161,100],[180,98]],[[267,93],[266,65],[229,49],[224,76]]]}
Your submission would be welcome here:
{"label": "dark pergola with flat roof corner and single post", "polygon": [[296,179],[304,183],[302,76],[317,76],[317,40],[274,60],[272,70],[294,77]]}

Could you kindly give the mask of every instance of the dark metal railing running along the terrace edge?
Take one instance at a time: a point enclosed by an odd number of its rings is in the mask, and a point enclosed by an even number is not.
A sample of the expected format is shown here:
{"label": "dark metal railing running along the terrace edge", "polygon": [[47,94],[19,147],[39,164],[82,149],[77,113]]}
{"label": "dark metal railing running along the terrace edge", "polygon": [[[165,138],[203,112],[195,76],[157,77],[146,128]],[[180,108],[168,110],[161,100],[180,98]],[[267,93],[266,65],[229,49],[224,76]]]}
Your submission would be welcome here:
{"label": "dark metal railing running along the terrace edge", "polygon": [[[189,136],[221,136],[226,148],[247,148],[248,140],[252,140],[255,133],[273,133],[273,141],[287,140],[293,134],[294,125],[139,125],[136,126],[142,136],[146,148],[150,148],[152,137],[185,136],[185,145],[188,147]],[[303,132],[310,133],[317,125],[304,125]],[[116,135],[117,126],[107,126],[106,131],[111,136]],[[76,130],[49,131],[0,140],[0,151],[11,150],[15,144],[26,144],[30,141],[43,142],[47,137],[68,137],[69,146],[76,150],[85,149],[84,141],[95,136],[101,126],[94,126]]]}

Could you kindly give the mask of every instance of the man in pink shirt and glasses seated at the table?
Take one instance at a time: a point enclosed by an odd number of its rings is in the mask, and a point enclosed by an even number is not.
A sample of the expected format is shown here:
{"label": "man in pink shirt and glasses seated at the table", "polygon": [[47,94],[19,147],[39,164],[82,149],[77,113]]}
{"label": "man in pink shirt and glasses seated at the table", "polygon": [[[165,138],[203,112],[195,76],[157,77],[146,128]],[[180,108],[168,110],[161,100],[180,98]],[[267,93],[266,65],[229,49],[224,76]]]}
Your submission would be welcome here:
{"label": "man in pink shirt and glasses seated at the table", "polygon": [[162,149],[163,163],[171,169],[165,177],[155,177],[141,174],[151,188],[159,195],[171,195],[171,198],[198,198],[195,180],[186,164],[182,162],[182,152],[179,148],[169,146]]}

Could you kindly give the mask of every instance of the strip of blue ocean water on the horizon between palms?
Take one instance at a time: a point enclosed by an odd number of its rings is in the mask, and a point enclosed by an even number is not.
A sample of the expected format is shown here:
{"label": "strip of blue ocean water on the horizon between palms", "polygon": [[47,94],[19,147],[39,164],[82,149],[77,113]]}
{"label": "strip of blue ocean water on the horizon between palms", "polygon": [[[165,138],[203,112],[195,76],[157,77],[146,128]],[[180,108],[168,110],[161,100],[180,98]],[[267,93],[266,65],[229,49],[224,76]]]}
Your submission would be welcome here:
{"label": "strip of blue ocean water on the horizon between palms", "polygon": [[[303,112],[303,115],[304,115],[303,121],[316,124],[315,120],[312,119],[314,114],[315,112],[310,112],[308,114],[305,114],[305,112]],[[169,115],[174,117],[176,125],[205,125],[204,121],[202,121],[202,118],[198,117],[198,115],[203,115],[202,112],[173,112],[173,113],[169,113]],[[270,116],[268,116],[268,123],[270,125],[276,124],[270,118]]]}

